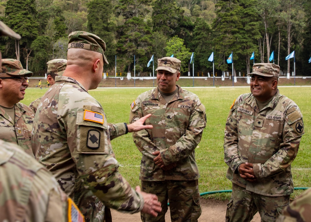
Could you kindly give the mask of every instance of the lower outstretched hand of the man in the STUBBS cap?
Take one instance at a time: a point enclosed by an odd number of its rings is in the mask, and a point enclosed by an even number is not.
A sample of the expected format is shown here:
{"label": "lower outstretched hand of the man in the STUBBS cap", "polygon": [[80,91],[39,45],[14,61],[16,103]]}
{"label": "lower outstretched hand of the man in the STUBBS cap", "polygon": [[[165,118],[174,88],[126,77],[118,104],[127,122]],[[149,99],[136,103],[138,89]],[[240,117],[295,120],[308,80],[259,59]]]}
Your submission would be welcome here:
{"label": "lower outstretched hand of the man in the STUBBS cap", "polygon": [[142,197],[144,198],[145,203],[142,212],[156,217],[158,212],[161,212],[162,210],[161,202],[158,201],[158,197],[155,194],[141,191],[139,186],[137,186],[135,190],[142,194]]}

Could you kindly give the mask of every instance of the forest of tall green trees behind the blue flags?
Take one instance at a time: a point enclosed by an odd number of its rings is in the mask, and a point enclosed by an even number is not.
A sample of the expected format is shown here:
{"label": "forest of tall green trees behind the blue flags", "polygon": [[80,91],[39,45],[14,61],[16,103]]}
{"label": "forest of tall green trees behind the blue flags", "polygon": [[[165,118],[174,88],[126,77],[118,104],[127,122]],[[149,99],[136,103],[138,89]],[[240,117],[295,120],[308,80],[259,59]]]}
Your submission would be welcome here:
{"label": "forest of tall green trees behind the blue flags", "polygon": [[[0,0],[0,20],[22,36],[0,39],[2,58],[17,58],[24,68],[42,76],[46,62],[67,58],[68,34],[87,31],[106,42],[109,65],[104,72],[140,76],[152,72],[154,55],[179,58],[181,74],[194,70],[207,76],[231,71],[249,73],[255,63],[269,62],[274,51],[281,72],[310,76],[310,0]],[[273,62],[273,61],[272,61]]]}

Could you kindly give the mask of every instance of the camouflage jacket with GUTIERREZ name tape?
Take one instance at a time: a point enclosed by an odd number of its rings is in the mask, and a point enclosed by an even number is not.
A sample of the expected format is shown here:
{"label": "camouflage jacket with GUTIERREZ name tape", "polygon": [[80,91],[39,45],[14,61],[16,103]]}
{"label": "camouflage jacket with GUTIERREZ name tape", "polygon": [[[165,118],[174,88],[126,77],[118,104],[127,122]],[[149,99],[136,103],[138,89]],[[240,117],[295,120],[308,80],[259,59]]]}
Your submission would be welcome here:
{"label": "camouflage jacket with GUTIERREZ name tape", "polygon": [[[243,94],[230,109],[225,127],[226,177],[246,190],[265,196],[293,192],[290,164],[304,134],[302,114],[291,99],[280,95],[259,111],[255,97]],[[255,182],[241,178],[237,168],[252,163]]]}

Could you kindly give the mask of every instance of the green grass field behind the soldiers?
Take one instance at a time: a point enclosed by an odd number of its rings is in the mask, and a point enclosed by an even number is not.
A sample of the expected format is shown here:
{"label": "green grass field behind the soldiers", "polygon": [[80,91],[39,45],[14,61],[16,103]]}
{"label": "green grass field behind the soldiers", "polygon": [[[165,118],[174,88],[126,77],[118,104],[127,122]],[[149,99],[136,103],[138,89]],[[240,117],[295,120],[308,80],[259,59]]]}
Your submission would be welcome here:
{"label": "green grass field behind the soldiers", "polygon": [[[103,106],[110,123],[129,121],[130,104],[137,95],[151,88],[135,89],[96,89],[89,93]],[[201,174],[200,192],[231,189],[231,182],[225,177],[227,165],[223,157],[224,128],[230,105],[240,94],[249,92],[249,88],[185,88],[197,94],[206,107],[207,126],[202,140],[196,148],[196,160]],[[47,89],[28,88],[25,99],[21,102],[29,105],[39,98]],[[311,87],[279,87],[280,93],[293,99],[304,116],[305,134],[301,139],[298,155],[292,164],[295,187],[309,187],[311,181],[311,145],[310,124]],[[139,166],[141,153],[132,141],[131,134],[118,137],[112,141],[113,150],[120,162],[120,172],[132,186],[140,185]],[[302,191],[295,191],[295,198]],[[230,193],[203,196],[227,199]]]}

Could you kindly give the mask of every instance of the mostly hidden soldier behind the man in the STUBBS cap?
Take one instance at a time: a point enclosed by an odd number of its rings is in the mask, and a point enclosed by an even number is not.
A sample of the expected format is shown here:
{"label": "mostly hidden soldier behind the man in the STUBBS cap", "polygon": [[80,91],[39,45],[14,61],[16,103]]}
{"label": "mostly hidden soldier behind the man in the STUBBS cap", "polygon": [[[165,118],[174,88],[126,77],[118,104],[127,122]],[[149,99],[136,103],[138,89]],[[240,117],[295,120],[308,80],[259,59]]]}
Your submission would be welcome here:
{"label": "mostly hidden soldier behind the man in the STUBBS cap", "polygon": [[[48,65],[48,72],[47,72],[48,76],[46,77],[46,79],[48,80],[50,86],[53,86],[55,83],[55,76],[63,75],[66,69],[66,66],[67,66],[67,59],[62,59],[62,58],[52,59],[46,64]],[[34,112],[37,112],[41,98],[42,97],[30,103],[29,107]]]}

